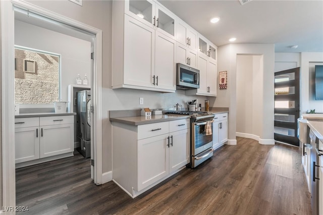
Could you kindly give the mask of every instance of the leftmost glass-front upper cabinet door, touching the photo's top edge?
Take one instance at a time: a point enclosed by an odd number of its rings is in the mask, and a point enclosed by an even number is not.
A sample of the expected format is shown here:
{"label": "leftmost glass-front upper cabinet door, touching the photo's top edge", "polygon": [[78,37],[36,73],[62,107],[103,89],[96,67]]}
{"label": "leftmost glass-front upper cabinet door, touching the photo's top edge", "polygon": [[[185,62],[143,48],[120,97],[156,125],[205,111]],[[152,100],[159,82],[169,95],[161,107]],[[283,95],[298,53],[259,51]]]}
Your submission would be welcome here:
{"label": "leftmost glass-front upper cabinet door, touching the photo's top edge", "polygon": [[126,0],[125,13],[150,27],[153,27],[155,3],[150,0]]}

